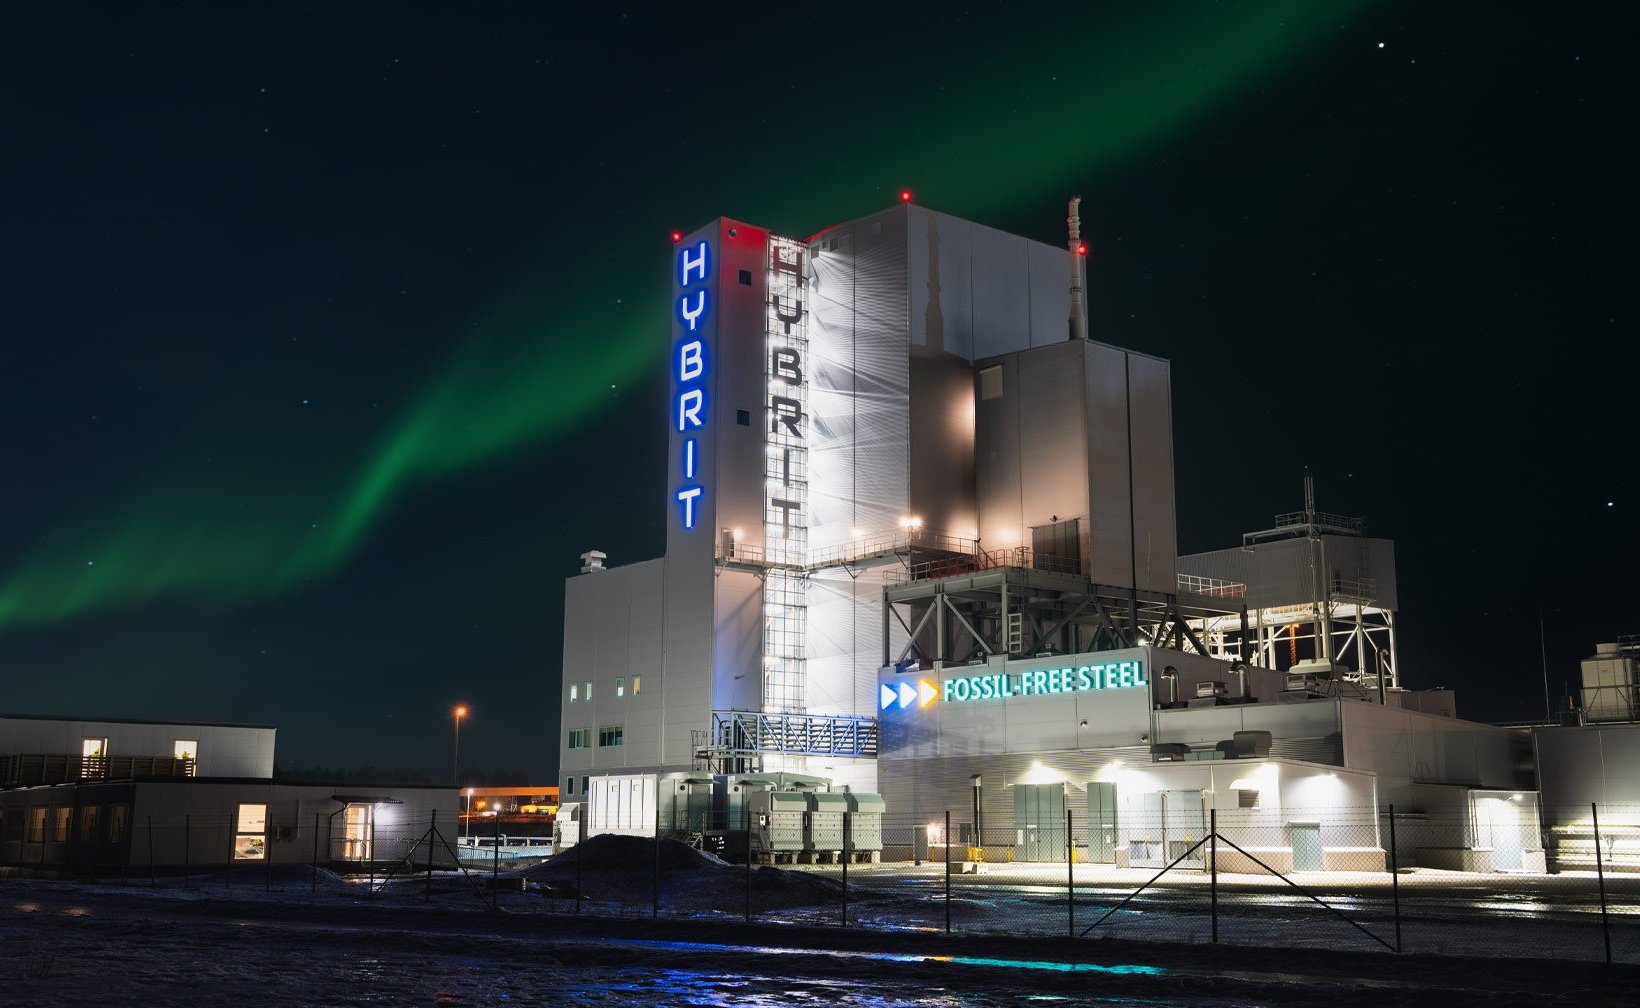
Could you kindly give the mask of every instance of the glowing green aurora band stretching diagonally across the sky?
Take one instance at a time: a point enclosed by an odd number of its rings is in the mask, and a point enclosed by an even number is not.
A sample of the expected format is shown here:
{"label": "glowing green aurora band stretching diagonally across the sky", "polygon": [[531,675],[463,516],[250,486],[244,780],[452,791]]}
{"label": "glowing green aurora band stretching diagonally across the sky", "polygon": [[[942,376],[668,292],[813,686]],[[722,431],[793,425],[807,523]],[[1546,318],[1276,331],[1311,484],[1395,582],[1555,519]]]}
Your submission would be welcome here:
{"label": "glowing green aurora band stretching diagonally across the sky", "polygon": [[[986,74],[953,75],[936,97],[887,87],[907,97],[872,98],[874,121],[846,108],[864,143],[841,172],[813,164],[807,175],[736,177],[707,195],[794,234],[886,202],[884,180],[915,180],[941,210],[964,216],[1056,202],[1305,57],[1361,7],[1366,0],[1168,7],[1128,26],[1081,15],[1096,23],[1066,25],[1033,39],[1030,52],[1004,51],[1012,57]],[[1073,48],[1087,38],[1097,39],[1091,51]],[[667,220],[666,207],[640,211]],[[600,269],[564,284],[559,293],[576,292],[569,310],[548,313],[538,292],[505,298],[385,431],[312,446],[287,434],[261,444],[243,433],[236,438],[249,444],[203,436],[144,470],[123,497],[110,492],[62,515],[0,582],[0,629],[162,597],[235,605],[300,588],[344,565],[418,484],[574,429],[608,405],[610,385],[640,380],[663,357],[664,305],[608,311],[622,293],[612,277],[654,274],[654,247],[622,241],[585,261]],[[289,459],[300,480],[284,482],[261,459]]]}

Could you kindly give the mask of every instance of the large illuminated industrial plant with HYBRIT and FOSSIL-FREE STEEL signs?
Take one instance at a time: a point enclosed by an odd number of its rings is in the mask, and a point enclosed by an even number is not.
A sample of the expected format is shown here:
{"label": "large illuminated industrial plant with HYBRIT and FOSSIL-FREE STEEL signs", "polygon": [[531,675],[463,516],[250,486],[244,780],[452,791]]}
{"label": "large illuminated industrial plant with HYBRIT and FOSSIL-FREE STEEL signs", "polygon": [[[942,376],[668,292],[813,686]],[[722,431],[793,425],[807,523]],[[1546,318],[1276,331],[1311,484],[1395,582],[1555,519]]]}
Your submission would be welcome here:
{"label": "large illuminated industrial plant with HYBRIT and FOSSIL-FREE STEEL signs", "polygon": [[1399,864],[1543,870],[1530,734],[1401,683],[1391,541],[1305,477],[1178,556],[1171,364],[1089,339],[1068,225],[907,198],[677,236],[666,554],[566,583],[571,820],[622,782],[797,774],[915,823],[891,857],[1161,865],[1219,813],[1273,865],[1383,870],[1394,805]]}

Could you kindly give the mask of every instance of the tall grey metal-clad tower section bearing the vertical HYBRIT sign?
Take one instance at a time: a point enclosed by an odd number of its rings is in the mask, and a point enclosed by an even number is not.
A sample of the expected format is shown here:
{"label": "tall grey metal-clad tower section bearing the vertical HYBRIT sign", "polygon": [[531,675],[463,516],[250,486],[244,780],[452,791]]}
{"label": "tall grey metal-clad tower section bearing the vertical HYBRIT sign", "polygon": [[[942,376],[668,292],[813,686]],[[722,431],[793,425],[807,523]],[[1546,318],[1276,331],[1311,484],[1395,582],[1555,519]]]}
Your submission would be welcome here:
{"label": "tall grey metal-clad tower section bearing the vertical HYBRIT sign", "polygon": [[874,790],[877,672],[917,636],[886,587],[928,562],[1036,544],[1171,588],[1168,364],[1066,339],[1071,254],[912,203],[676,243],[666,556],[567,582],[566,800],[689,769]]}

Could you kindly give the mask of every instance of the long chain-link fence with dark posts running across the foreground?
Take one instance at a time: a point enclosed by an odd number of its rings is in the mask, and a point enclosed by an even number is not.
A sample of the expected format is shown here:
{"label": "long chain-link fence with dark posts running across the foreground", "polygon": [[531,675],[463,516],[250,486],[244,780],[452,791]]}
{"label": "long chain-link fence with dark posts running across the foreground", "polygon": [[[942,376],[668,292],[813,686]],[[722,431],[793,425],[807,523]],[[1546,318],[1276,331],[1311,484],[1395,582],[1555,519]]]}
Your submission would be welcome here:
{"label": "long chain-link fence with dark posts running across the foreground", "polygon": [[1640,806],[1486,793],[1443,811],[1276,813],[1181,797],[977,824],[973,808],[912,818],[823,803],[740,818],[554,854],[543,838],[438,815],[141,816],[93,833],[48,813],[0,834],[0,864],[510,913],[1640,962]]}

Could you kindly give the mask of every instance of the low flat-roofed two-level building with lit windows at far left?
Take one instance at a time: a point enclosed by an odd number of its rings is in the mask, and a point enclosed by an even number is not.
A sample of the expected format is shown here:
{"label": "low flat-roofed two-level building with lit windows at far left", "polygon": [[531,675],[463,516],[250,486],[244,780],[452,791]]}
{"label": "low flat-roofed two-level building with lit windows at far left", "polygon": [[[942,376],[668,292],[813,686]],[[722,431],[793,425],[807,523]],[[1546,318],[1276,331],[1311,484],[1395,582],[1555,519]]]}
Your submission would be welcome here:
{"label": "low flat-roofed two-level building with lit windows at far left", "polygon": [[405,857],[435,813],[454,836],[454,787],[276,780],[274,738],[262,724],[0,715],[0,867],[364,870]]}

